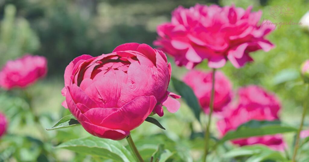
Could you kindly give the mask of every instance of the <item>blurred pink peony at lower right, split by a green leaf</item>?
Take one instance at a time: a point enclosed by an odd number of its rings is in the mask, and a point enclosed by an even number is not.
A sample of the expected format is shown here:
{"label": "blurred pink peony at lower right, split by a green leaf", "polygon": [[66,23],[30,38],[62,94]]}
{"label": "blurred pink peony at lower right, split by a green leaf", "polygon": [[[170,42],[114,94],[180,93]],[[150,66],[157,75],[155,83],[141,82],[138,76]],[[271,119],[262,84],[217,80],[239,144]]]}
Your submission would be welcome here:
{"label": "blurred pink peony at lower right, split by a green leaf", "polygon": [[[238,126],[250,120],[277,120],[280,103],[275,96],[257,86],[249,86],[239,90],[239,103],[235,109],[230,109],[225,117],[218,121],[217,126],[221,135],[236,130]],[[281,135],[265,135],[232,141],[240,146],[264,144],[274,150],[283,151],[286,143]]]}

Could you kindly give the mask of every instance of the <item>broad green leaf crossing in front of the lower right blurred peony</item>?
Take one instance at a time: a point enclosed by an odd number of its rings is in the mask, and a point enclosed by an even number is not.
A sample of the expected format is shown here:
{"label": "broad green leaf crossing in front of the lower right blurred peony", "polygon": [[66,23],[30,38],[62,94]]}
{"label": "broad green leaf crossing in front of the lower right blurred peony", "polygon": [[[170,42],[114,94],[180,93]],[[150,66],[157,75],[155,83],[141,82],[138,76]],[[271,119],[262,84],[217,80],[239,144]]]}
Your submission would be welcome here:
{"label": "broad green leaf crossing in front of the lower right blurred peony", "polygon": [[240,125],[237,130],[229,131],[218,141],[217,144],[225,141],[239,138],[248,138],[253,136],[274,135],[278,133],[296,132],[297,128],[286,126],[280,121],[257,121],[251,120]]}

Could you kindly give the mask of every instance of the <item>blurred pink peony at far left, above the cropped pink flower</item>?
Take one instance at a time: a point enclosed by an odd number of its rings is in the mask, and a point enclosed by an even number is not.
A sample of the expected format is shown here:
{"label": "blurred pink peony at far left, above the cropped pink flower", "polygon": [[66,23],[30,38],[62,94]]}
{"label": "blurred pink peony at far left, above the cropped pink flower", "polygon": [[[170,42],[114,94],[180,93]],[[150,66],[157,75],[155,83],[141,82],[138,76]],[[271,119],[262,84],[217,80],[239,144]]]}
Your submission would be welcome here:
{"label": "blurred pink peony at far left, above the cropped pink flower", "polygon": [[5,89],[24,88],[47,73],[47,60],[43,56],[25,55],[8,61],[0,71],[0,86]]}

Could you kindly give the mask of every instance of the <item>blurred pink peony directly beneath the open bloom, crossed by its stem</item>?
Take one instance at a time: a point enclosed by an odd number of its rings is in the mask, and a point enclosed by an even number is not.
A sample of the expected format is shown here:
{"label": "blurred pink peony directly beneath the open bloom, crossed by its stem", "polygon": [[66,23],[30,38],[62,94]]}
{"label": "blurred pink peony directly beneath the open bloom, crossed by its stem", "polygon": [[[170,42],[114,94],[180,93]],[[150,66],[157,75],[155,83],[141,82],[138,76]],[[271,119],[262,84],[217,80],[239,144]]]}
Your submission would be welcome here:
{"label": "blurred pink peony directly beneath the open bloom, crossed by its stem", "polygon": [[[226,76],[218,71],[215,74],[214,112],[221,112],[231,102],[232,85]],[[209,112],[212,88],[212,72],[191,70],[184,76],[184,82],[190,86],[205,113]]]}

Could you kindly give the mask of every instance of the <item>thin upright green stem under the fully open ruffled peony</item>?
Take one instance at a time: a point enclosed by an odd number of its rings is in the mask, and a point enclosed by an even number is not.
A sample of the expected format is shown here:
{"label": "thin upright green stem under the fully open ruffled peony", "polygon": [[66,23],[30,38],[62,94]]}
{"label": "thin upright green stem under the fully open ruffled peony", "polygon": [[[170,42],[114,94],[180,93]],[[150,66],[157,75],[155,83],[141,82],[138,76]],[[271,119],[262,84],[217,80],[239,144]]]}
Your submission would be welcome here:
{"label": "thin upright green stem under the fully open ruffled peony", "polygon": [[202,161],[206,162],[207,161],[207,155],[209,152],[209,141],[210,141],[210,125],[211,125],[211,116],[212,113],[214,111],[214,83],[215,83],[215,73],[216,73],[216,69],[213,69],[212,72],[212,87],[211,87],[211,96],[210,96],[210,103],[209,103],[209,116],[208,116],[208,123],[207,123],[207,127],[206,127],[206,131],[205,131],[205,152],[204,155],[202,157]]}

